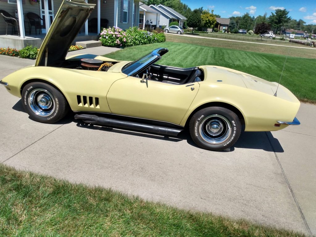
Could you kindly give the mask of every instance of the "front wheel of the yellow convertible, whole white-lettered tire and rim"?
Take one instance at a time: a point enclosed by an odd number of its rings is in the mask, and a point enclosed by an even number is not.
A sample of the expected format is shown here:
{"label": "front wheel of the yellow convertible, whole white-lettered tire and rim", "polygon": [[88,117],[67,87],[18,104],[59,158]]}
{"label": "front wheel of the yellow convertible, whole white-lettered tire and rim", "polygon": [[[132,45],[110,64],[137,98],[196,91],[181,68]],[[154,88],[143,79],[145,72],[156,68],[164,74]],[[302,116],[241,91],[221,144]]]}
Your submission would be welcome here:
{"label": "front wheel of the yellow convertible, whole white-lettered tire and rim", "polygon": [[31,82],[25,85],[21,96],[25,111],[37,122],[55,123],[68,112],[63,94],[46,83]]}

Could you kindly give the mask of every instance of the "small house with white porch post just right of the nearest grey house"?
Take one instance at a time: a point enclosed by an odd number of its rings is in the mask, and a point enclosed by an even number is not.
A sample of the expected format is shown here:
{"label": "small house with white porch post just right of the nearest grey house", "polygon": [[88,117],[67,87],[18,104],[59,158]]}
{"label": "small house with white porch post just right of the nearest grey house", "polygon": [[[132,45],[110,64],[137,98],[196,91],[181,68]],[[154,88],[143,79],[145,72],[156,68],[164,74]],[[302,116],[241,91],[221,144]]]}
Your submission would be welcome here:
{"label": "small house with white porch post just right of the nearest grey house", "polygon": [[160,13],[144,3],[139,2],[139,28],[145,29],[145,25],[159,27]]}

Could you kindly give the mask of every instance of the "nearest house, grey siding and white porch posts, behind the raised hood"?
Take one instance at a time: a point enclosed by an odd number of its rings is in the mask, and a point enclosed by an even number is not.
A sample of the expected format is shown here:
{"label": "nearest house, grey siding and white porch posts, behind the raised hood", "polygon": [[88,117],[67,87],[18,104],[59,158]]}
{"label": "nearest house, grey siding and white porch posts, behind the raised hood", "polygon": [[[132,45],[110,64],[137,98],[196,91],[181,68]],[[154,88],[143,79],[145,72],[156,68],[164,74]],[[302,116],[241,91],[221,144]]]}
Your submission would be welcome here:
{"label": "nearest house, grey siding and white porch posts, behind the raised hood", "polygon": [[[147,0],[86,0],[86,2],[96,4],[96,6],[82,27],[76,41],[97,40],[102,27],[116,26],[123,29],[132,26],[138,27],[139,2],[144,3]],[[18,36],[16,27],[16,32],[11,33],[12,25],[8,26],[8,35],[5,35],[7,24],[3,16],[0,15],[0,47],[9,46],[21,49],[27,44],[39,47],[46,30],[42,30],[41,34],[37,30],[35,36],[35,27],[33,26],[30,30],[27,13],[33,12],[39,15],[43,19],[41,20],[43,28],[47,29],[52,24],[55,12],[57,13],[61,3],[62,0],[41,0],[39,3],[32,0],[0,0],[0,9],[5,10],[13,17],[15,17],[15,10],[17,10],[17,19],[20,22],[20,36]],[[21,22],[23,23],[21,24]]]}

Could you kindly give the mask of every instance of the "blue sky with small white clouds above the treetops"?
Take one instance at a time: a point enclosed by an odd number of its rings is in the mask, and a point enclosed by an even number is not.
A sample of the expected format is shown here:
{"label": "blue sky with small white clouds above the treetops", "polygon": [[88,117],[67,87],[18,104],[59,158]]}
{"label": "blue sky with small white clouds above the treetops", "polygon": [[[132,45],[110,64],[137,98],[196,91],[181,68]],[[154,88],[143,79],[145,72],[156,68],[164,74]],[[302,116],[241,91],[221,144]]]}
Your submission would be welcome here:
{"label": "blue sky with small white clouds above the treetops", "polygon": [[229,18],[231,16],[242,16],[248,12],[251,16],[263,15],[265,12],[269,16],[276,8],[287,9],[289,16],[293,19],[302,19],[307,24],[316,24],[316,1],[208,1],[208,0],[181,0],[187,4],[192,10],[203,7],[203,9],[213,9],[214,14],[219,14],[221,17]]}

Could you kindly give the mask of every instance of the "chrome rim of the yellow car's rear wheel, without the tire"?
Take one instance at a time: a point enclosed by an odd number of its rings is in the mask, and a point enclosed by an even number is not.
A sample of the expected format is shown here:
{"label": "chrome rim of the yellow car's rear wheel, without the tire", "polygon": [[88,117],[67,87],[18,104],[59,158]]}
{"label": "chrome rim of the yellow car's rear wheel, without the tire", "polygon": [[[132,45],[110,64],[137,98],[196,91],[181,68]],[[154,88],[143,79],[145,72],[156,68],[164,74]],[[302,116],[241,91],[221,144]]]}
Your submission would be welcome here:
{"label": "chrome rim of the yellow car's rear wheel, without the tire", "polygon": [[199,126],[200,136],[205,142],[211,144],[223,143],[231,132],[232,128],[228,119],[218,114],[205,117]]}

